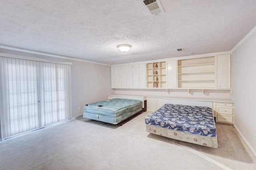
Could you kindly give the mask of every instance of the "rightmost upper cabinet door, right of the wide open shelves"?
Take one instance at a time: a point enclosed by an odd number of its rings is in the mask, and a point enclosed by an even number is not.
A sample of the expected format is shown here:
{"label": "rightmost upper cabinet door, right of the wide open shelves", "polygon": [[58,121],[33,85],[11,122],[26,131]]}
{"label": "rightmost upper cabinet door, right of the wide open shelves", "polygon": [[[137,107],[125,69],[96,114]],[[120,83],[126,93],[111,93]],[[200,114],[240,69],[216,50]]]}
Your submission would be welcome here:
{"label": "rightmost upper cabinet door, right of the wide open shelves", "polygon": [[217,89],[231,88],[231,57],[230,54],[217,55]]}

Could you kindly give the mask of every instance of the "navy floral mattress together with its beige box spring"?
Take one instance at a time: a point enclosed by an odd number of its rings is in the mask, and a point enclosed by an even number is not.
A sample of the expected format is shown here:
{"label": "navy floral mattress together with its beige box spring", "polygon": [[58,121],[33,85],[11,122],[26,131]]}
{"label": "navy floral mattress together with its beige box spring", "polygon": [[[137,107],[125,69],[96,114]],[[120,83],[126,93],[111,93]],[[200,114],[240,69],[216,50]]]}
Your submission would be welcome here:
{"label": "navy floral mattress together with its beige box spring", "polygon": [[165,104],[145,117],[146,131],[168,138],[218,148],[212,109]]}

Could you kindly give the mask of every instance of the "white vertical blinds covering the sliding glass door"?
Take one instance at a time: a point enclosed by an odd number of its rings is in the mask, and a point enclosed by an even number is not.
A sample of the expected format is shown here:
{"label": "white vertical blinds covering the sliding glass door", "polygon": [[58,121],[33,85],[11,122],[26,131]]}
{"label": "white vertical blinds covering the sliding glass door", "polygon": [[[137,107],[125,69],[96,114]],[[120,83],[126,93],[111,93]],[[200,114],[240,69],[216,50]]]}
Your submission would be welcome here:
{"label": "white vertical blinds covering the sliding glass door", "polygon": [[70,65],[0,57],[0,140],[71,118]]}

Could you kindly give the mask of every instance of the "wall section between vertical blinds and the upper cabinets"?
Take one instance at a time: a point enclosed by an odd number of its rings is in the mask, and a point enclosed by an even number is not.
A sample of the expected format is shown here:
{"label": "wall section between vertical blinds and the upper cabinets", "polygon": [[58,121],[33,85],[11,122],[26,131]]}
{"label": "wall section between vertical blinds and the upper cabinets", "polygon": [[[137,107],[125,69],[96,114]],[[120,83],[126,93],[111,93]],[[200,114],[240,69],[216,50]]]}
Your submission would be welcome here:
{"label": "wall section between vertical blinds and the upper cabinets", "polygon": [[83,114],[85,104],[106,100],[114,90],[111,89],[110,66],[71,62],[72,111],[73,117],[78,117]]}

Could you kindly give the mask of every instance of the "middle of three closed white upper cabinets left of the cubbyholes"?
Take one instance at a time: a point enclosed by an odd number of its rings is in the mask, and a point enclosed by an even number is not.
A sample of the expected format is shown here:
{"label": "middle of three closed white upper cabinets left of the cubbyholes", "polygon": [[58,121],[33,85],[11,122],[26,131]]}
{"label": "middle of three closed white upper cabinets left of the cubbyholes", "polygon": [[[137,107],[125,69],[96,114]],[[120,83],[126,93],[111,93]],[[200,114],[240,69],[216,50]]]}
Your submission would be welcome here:
{"label": "middle of three closed white upper cabinets left of the cubbyholes", "polygon": [[132,65],[121,66],[121,71],[122,88],[132,88]]}

